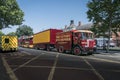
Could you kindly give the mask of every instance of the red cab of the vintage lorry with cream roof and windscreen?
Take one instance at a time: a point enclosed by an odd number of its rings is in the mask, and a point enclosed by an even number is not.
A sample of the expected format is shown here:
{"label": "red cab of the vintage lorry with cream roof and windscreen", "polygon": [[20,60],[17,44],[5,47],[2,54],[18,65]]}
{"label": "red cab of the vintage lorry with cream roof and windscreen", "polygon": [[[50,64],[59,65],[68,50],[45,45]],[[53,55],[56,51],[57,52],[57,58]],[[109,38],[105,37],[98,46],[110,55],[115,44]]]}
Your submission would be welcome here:
{"label": "red cab of the vintage lorry with cream roof and windscreen", "polygon": [[73,32],[73,52],[74,54],[90,53],[96,48],[94,34],[89,30],[74,30]]}

